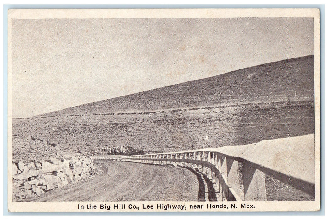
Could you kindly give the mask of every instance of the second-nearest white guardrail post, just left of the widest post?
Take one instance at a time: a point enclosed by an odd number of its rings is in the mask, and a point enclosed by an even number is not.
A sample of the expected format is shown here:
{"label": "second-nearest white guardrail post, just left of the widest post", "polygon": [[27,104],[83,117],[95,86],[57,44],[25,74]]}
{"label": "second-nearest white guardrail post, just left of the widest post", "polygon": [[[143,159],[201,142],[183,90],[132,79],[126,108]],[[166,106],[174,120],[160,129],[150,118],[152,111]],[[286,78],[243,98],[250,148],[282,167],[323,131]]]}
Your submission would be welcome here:
{"label": "second-nearest white guardrail post, just left of the widest post", "polygon": [[[235,192],[240,194],[239,178],[238,178],[238,161],[227,158],[227,179],[228,186],[232,187]],[[233,201],[233,195],[229,194],[229,201]]]}

